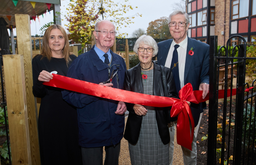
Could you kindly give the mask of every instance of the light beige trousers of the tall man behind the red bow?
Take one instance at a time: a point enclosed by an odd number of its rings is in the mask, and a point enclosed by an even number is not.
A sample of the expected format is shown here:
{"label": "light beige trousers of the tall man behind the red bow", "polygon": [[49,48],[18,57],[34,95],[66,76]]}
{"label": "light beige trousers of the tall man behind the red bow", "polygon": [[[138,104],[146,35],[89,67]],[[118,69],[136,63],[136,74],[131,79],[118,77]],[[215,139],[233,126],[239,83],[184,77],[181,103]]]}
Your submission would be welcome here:
{"label": "light beige trousers of the tall man behind the red bow", "polygon": [[[170,137],[171,137],[171,141],[169,143],[169,165],[173,164],[175,126],[177,126],[177,121],[172,122],[172,127],[171,127],[171,123],[168,124]],[[192,151],[190,151],[189,149],[181,146],[184,165],[196,165],[197,151],[196,151],[196,137],[195,137],[195,134],[194,134],[194,137],[193,137],[191,147],[192,147]]]}

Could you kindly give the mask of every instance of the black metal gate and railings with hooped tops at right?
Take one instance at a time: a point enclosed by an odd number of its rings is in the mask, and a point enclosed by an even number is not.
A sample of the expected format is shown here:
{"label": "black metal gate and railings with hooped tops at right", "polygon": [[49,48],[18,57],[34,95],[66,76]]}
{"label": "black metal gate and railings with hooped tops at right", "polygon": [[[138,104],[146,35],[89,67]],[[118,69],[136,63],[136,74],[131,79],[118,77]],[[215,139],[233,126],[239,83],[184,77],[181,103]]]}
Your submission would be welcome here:
{"label": "black metal gate and railings with hooped tops at right", "polygon": [[[230,49],[230,41],[234,37],[243,40],[243,44],[235,45]],[[255,90],[245,83],[246,60],[256,60],[255,57],[246,57],[246,41],[242,36],[232,36],[227,45],[218,46],[218,36],[210,37],[210,92],[209,92],[209,128],[208,128],[208,155],[207,164],[255,164]],[[256,56],[256,55],[255,55]],[[236,95],[227,98],[228,85],[232,93],[234,68],[237,68]],[[224,72],[223,81],[221,71]],[[231,78],[230,78],[231,77]],[[256,80],[253,80],[252,87]],[[212,83],[213,82],[213,83]],[[219,84],[224,85],[223,109],[218,107]],[[250,84],[251,84],[250,83]],[[245,95],[246,94],[246,95]],[[232,94],[231,94],[232,95]],[[233,100],[232,100],[233,99]],[[251,100],[250,102],[248,102]],[[248,107],[249,103],[249,107]],[[233,107],[233,110],[232,110]],[[234,110],[235,108],[235,110]],[[218,111],[219,110],[219,111]],[[222,121],[218,121],[220,111],[223,113]],[[231,116],[235,115],[233,119]],[[228,118],[228,121],[227,121]],[[234,122],[233,125],[232,121]],[[218,123],[220,122],[220,123]],[[227,124],[228,123],[228,124]],[[222,129],[220,127],[222,125]],[[226,126],[227,125],[227,126]],[[218,129],[219,128],[219,129]],[[249,131],[248,131],[249,130]],[[219,134],[221,131],[222,135]],[[222,139],[218,139],[222,136]],[[232,137],[232,138],[231,138]],[[217,139],[217,140],[216,140]],[[218,141],[218,142],[217,142]],[[220,147],[220,148],[219,148]],[[219,149],[217,149],[219,148]],[[224,152],[223,152],[224,151]],[[217,156],[219,156],[217,158]],[[230,157],[231,156],[231,157]]]}

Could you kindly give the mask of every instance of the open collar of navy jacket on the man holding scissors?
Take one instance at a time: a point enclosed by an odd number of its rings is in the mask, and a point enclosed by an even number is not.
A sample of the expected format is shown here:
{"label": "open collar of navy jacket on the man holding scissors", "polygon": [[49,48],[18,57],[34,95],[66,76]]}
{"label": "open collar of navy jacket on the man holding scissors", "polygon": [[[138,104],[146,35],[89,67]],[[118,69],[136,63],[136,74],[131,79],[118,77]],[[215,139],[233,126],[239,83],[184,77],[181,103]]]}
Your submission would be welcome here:
{"label": "open collar of navy jacket on the man holding scissors", "polygon": [[[94,50],[94,47],[95,45],[92,47],[92,49],[89,51],[89,56],[90,56],[90,59],[92,60],[93,62],[93,65],[96,66],[97,70],[100,71],[100,70],[104,70],[106,68],[109,68],[109,66],[107,64],[105,64],[101,59],[100,57],[97,55],[97,53],[95,52]],[[120,65],[120,61],[118,60],[117,58],[117,54],[115,54],[114,52],[112,52],[112,50],[110,50],[110,53],[112,55],[112,62],[111,62],[111,65],[113,64],[117,64],[117,65]]]}

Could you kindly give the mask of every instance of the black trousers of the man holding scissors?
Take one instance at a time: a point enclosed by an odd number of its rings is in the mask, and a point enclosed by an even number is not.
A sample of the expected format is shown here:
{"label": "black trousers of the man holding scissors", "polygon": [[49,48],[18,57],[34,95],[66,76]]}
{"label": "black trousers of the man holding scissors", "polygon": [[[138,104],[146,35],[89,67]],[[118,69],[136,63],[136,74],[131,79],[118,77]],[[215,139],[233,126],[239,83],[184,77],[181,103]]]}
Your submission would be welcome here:
{"label": "black trousers of the man holding scissors", "polygon": [[[104,165],[118,165],[120,145],[105,146],[106,157]],[[103,147],[81,148],[83,165],[103,165]]]}

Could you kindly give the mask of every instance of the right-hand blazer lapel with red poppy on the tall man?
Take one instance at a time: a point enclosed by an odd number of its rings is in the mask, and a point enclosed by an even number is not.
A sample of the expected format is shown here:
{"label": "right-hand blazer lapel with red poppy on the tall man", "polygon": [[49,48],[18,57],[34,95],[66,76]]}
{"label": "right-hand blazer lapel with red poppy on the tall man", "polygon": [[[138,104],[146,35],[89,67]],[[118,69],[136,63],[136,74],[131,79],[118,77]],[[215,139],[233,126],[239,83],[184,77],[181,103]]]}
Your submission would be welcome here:
{"label": "right-hand blazer lapel with red poppy on the tall man", "polygon": [[195,45],[194,45],[194,42],[191,38],[188,37],[188,45],[187,45],[187,54],[186,54],[186,63],[185,63],[185,70],[184,70],[184,84],[186,84],[186,78],[187,78],[187,75],[188,75],[188,71],[189,71],[189,68],[191,66],[191,63],[192,63],[192,60],[193,60],[193,57],[195,55],[195,51],[194,51],[194,55],[189,55],[188,52],[190,51],[190,49],[193,47],[193,51],[195,50]]}

